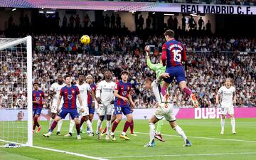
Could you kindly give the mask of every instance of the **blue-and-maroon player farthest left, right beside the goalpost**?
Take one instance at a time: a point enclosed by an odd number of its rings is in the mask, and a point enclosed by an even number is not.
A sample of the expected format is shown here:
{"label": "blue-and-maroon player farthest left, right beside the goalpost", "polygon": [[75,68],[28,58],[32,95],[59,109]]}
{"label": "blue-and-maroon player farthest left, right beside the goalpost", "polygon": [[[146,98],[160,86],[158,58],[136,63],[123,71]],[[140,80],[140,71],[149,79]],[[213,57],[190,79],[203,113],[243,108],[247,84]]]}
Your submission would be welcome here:
{"label": "blue-and-maroon player farthest left, right beside the goalpost", "polygon": [[41,114],[42,108],[43,108],[43,98],[45,97],[44,92],[42,90],[39,90],[38,82],[33,83],[33,87],[35,90],[32,92],[32,102],[33,102],[33,133],[35,132],[36,127],[38,127],[36,133],[39,133],[41,130],[41,125],[38,123],[38,117]]}

